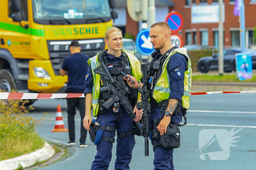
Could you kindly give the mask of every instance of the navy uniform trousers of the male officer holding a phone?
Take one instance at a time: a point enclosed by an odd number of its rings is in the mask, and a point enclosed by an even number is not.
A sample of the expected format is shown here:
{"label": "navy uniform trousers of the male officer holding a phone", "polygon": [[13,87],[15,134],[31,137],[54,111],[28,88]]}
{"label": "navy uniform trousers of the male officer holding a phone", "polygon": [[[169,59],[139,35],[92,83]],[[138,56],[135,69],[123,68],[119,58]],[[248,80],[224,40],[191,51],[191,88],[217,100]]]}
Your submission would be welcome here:
{"label": "navy uniform trousers of the male officer holding a phone", "polygon": [[[161,115],[161,108],[152,108],[149,116],[150,129],[154,129],[154,120],[158,119]],[[164,114],[163,114],[164,116]],[[162,117],[163,117],[162,116]],[[172,115],[172,120],[176,123],[180,123],[182,113],[180,115]],[[155,143],[158,141],[155,141]],[[154,166],[155,170],[174,170],[173,166],[173,149],[163,148],[158,146],[154,153]]]}

